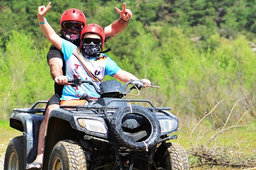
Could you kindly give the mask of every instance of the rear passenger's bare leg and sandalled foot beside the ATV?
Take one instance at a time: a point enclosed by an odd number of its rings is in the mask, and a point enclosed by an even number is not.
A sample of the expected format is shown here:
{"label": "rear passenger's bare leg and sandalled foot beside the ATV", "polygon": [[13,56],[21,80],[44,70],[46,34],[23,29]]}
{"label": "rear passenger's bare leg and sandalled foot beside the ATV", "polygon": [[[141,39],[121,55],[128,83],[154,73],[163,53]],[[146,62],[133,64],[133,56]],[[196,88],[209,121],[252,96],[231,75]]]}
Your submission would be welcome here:
{"label": "rear passenger's bare leg and sandalled foot beside the ATV", "polygon": [[[53,109],[57,109],[59,108],[58,104],[51,104],[50,106],[48,106],[46,108],[46,112],[44,115],[44,119],[40,125],[39,128],[39,136],[38,136],[38,155],[36,156],[36,160],[34,160],[34,162],[39,162],[42,164],[42,159],[43,159],[43,152],[44,152],[44,138],[46,136],[46,127],[47,127],[47,123],[48,123],[48,119],[49,119],[49,114]],[[34,163],[33,162],[33,163]],[[34,165],[29,165],[30,167],[34,167]],[[40,167],[40,165],[36,165],[36,167],[38,168],[42,168]]]}

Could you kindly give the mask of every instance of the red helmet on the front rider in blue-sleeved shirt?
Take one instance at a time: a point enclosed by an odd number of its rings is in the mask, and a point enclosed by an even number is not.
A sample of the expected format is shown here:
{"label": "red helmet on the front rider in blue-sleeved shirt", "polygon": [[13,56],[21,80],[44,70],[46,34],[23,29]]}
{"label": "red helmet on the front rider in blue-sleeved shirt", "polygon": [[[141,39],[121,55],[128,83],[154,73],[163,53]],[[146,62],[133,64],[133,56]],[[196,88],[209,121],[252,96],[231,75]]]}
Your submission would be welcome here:
{"label": "red helmet on the front rider in blue-sleeved shirt", "polygon": [[101,40],[102,40],[101,50],[103,50],[103,45],[104,45],[104,41],[105,41],[105,33],[104,33],[104,30],[101,28],[101,26],[99,26],[98,24],[88,24],[85,27],[83,27],[82,32],[81,32],[81,47],[82,47],[83,36],[86,33],[99,34],[99,36],[101,37]]}

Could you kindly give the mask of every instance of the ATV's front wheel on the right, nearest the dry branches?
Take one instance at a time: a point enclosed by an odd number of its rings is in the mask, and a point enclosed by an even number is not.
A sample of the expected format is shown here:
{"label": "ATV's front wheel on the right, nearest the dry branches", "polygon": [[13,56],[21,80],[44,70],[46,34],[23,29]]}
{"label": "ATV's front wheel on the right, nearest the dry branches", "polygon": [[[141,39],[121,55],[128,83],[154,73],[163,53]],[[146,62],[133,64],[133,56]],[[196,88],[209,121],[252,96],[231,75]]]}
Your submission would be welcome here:
{"label": "ATV's front wheel on the right, nearest the dry branches", "polygon": [[178,143],[161,144],[157,148],[153,161],[157,169],[189,170],[186,151]]}

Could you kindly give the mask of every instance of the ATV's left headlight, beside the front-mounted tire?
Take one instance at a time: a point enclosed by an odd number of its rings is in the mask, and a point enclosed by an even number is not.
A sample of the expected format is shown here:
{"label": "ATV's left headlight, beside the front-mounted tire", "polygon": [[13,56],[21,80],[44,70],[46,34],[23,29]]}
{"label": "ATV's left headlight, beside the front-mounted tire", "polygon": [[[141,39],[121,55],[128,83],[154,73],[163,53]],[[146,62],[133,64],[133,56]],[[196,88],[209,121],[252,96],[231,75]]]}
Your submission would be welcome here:
{"label": "ATV's left headlight, beside the front-mounted tire", "polygon": [[97,132],[106,134],[108,132],[107,128],[105,127],[104,123],[99,120],[94,119],[77,119],[78,124],[80,127],[85,128],[90,132]]}

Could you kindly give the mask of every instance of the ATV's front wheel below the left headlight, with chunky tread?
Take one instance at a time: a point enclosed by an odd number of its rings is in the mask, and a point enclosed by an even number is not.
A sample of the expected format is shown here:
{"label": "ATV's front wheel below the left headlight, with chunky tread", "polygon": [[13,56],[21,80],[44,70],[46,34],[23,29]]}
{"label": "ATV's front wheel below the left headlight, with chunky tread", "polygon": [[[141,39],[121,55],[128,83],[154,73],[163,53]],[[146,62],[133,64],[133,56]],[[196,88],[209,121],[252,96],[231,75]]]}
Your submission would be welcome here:
{"label": "ATV's front wheel below the left headlight, with chunky tread", "polygon": [[86,158],[80,144],[72,140],[63,140],[52,149],[49,170],[86,170]]}

